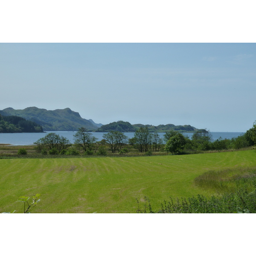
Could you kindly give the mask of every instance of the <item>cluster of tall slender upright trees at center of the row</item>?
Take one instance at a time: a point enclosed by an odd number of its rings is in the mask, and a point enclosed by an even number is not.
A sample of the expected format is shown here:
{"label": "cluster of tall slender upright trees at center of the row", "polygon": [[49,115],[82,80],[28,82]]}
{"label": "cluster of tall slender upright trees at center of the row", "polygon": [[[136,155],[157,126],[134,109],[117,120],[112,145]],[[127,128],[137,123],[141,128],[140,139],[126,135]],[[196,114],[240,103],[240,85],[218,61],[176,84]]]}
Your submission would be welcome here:
{"label": "cluster of tall slender upright trees at center of the row", "polygon": [[134,133],[135,148],[140,152],[147,152],[151,149],[152,135],[148,131],[148,127],[140,127]]}

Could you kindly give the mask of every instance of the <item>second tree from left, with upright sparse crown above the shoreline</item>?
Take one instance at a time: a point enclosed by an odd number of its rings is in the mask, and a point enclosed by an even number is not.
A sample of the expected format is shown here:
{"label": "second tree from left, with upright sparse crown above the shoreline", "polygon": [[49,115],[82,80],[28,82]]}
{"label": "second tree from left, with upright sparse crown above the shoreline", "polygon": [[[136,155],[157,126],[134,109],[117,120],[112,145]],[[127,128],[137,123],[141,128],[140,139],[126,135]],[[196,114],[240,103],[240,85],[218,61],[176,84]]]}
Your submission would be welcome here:
{"label": "second tree from left, with upright sparse crown above the shoreline", "polygon": [[73,137],[75,138],[74,143],[76,147],[84,152],[86,152],[87,150],[92,151],[94,144],[98,140],[84,127],[79,128],[76,134],[73,135]]}

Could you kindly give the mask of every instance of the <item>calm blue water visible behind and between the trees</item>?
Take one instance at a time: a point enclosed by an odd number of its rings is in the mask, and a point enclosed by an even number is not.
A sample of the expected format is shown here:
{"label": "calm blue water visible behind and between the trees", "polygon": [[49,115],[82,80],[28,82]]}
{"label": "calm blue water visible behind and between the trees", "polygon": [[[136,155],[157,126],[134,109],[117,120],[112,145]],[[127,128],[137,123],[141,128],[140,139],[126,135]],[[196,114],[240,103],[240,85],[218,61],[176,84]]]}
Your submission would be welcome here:
{"label": "calm blue water visible behind and between the trees", "polygon": [[[48,131],[49,133],[51,131]],[[71,143],[74,142],[73,135],[76,134],[76,132],[70,132],[70,131],[53,131],[56,134],[59,134],[60,136],[66,137],[68,140],[70,140]],[[2,134],[0,133],[0,144],[12,144],[12,145],[32,145],[35,141],[38,139],[44,137],[47,135],[47,133],[17,133],[17,134]],[[98,138],[98,140],[103,139],[103,132],[92,132],[93,136]],[[134,136],[134,133],[132,132],[125,132],[124,133],[128,138],[132,138]],[[233,137],[238,137],[241,134],[244,134],[243,132],[211,132],[212,139],[217,140],[219,137],[222,137],[223,139],[231,139]],[[163,138],[164,133],[159,133],[160,138]],[[187,135],[189,138],[192,137],[193,133],[183,133],[183,135]]]}

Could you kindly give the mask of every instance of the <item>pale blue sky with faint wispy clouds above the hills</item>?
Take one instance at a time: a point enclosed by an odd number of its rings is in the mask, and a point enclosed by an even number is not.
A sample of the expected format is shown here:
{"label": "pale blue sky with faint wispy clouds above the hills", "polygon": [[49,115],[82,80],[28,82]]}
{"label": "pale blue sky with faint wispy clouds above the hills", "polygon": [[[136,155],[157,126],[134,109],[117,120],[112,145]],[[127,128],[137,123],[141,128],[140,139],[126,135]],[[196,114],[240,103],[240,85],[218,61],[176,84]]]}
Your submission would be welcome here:
{"label": "pale blue sky with faint wispy clouds above the hills", "polygon": [[256,44],[6,43],[0,84],[0,110],[243,132],[256,120]]}

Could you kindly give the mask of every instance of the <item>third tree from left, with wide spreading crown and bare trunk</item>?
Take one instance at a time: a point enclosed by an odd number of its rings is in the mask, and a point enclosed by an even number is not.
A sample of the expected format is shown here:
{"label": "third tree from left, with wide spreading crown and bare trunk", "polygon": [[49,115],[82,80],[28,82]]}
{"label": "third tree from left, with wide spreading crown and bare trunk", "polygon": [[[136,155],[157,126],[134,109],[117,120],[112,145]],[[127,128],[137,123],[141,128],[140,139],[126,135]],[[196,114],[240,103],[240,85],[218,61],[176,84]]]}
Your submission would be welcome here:
{"label": "third tree from left, with wide spreading crown and bare trunk", "polygon": [[102,137],[110,145],[112,153],[115,153],[116,150],[119,151],[128,142],[128,137],[120,131],[110,131],[103,134]]}

